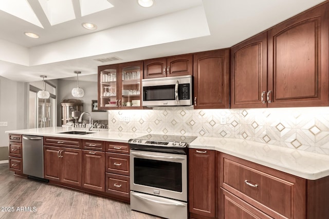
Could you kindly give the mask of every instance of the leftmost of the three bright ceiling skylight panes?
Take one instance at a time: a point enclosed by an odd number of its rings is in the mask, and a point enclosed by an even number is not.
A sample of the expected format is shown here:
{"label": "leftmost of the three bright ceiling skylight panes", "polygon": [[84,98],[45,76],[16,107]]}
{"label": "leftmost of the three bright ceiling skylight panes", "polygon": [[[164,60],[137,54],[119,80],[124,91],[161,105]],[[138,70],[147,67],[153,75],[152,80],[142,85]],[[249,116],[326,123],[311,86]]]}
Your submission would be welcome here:
{"label": "leftmost of the three bright ceiling skylight panes", "polygon": [[27,1],[22,0],[10,0],[0,1],[0,10],[5,11],[11,15],[19,17],[24,21],[34,24],[38,27],[43,28],[38,17],[36,17],[34,11]]}

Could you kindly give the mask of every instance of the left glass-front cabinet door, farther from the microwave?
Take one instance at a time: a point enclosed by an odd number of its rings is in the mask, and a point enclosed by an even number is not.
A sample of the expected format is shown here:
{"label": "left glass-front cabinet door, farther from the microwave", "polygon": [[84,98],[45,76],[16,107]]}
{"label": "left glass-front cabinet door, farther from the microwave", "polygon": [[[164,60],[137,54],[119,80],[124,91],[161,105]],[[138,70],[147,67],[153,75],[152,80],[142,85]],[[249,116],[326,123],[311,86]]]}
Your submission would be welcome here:
{"label": "left glass-front cabinet door, farther from the microwave", "polygon": [[118,107],[116,68],[100,71],[99,107]]}

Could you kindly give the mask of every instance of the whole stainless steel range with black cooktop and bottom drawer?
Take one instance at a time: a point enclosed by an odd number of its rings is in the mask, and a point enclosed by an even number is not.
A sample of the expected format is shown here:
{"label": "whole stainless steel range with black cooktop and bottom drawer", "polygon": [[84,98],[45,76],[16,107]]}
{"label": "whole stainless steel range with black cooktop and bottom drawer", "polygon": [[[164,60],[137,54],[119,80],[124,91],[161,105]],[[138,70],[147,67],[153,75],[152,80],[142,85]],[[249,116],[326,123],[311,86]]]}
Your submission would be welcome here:
{"label": "whole stainless steel range with black cooktop and bottom drawer", "polygon": [[195,138],[149,134],[129,140],[132,210],[187,218],[187,153]]}

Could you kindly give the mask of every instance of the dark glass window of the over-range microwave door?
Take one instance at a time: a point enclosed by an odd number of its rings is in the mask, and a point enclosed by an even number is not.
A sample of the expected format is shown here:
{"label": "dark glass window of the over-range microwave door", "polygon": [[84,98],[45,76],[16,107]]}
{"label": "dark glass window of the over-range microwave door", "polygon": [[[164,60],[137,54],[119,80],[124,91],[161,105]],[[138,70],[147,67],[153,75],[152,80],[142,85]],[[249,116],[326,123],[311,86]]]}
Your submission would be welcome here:
{"label": "dark glass window of the over-range microwave door", "polygon": [[143,87],[144,101],[175,100],[175,85]]}

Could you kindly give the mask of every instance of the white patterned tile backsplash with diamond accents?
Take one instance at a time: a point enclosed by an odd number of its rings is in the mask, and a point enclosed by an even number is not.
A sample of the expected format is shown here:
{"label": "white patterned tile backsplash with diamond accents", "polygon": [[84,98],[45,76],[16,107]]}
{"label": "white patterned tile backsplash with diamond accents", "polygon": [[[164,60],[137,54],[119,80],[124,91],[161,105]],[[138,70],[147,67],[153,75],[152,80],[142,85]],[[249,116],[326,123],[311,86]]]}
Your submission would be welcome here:
{"label": "white patterned tile backsplash with diamond accents", "polygon": [[329,155],[329,107],[110,110],[108,128],[120,132],[244,138]]}

